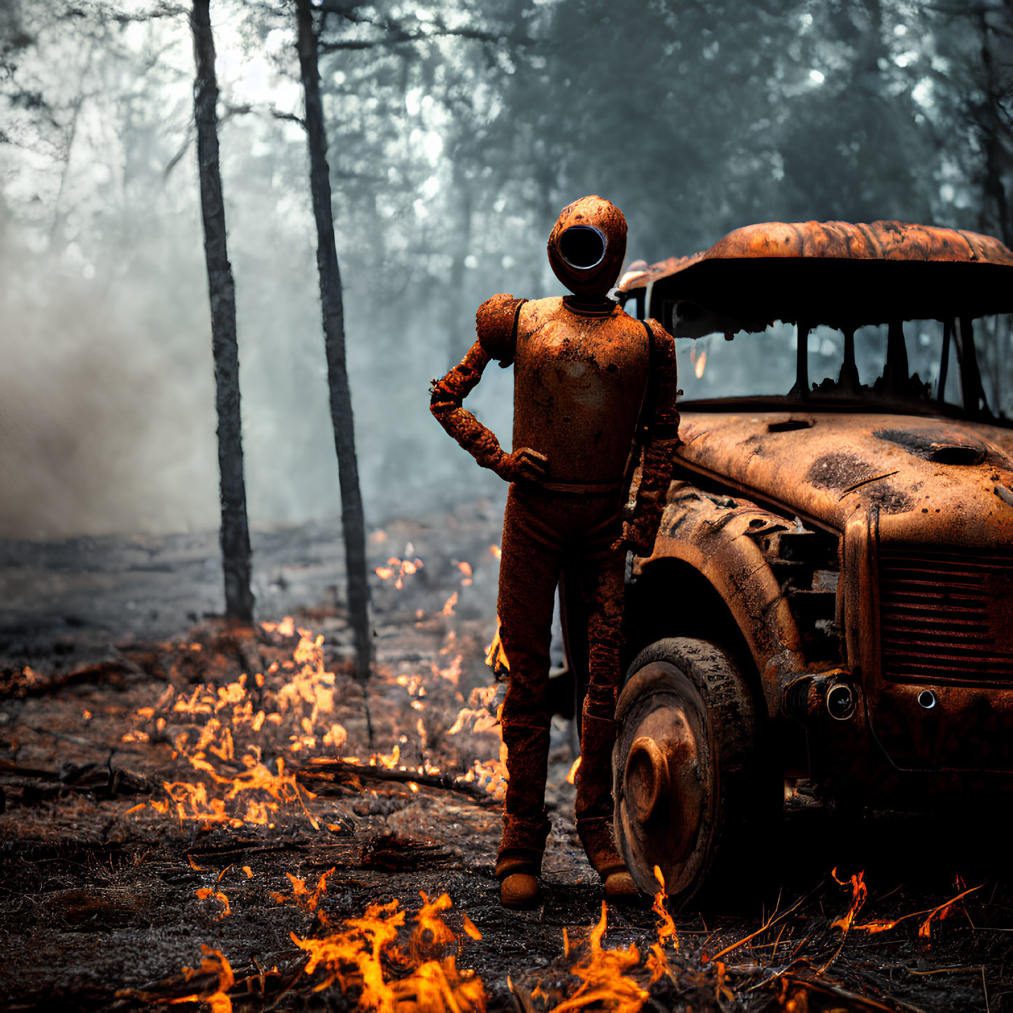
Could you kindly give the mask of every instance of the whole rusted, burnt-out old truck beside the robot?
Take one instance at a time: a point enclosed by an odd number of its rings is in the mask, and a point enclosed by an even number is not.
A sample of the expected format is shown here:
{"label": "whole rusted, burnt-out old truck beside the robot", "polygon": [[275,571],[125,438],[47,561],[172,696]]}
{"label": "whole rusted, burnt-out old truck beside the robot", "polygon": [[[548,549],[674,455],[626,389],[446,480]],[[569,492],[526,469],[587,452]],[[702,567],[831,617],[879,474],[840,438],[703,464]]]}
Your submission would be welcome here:
{"label": "whole rusted, burnt-out old truck beside the robot", "polygon": [[627,589],[613,764],[640,888],[656,865],[685,902],[793,799],[911,810],[1013,786],[1013,428],[979,365],[1003,344],[1013,253],[898,222],[768,223],[639,266],[621,299],[715,335],[739,388],[794,374],[787,393],[707,396],[703,352],[680,356],[696,389]]}

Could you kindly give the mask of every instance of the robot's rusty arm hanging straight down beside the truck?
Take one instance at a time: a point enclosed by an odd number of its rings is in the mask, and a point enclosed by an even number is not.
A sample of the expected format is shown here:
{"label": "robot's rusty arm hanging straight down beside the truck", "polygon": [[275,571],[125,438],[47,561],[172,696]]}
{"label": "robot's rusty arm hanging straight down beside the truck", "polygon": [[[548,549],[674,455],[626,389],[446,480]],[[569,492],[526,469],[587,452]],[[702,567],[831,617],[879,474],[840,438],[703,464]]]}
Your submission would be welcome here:
{"label": "robot's rusty arm hanging straight down beside the truck", "polygon": [[643,464],[637,488],[633,515],[624,525],[623,538],[627,548],[638,556],[649,556],[661,514],[665,512],[669,483],[679,439],[679,372],[676,365],[676,342],[656,321],[647,320],[653,338],[651,355],[652,404],[647,405]]}

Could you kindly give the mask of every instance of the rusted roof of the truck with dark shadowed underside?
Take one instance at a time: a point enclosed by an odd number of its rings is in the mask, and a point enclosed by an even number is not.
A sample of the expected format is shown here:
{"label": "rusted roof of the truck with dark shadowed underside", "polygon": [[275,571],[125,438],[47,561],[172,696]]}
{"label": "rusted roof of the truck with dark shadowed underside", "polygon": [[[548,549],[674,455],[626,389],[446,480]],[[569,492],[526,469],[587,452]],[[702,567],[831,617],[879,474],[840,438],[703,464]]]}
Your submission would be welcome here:
{"label": "rusted roof of the truck with dark shadowed underside", "polygon": [[992,236],[902,222],[764,222],[709,249],[627,271],[676,336],[773,320],[844,330],[1013,311],[1013,252]]}

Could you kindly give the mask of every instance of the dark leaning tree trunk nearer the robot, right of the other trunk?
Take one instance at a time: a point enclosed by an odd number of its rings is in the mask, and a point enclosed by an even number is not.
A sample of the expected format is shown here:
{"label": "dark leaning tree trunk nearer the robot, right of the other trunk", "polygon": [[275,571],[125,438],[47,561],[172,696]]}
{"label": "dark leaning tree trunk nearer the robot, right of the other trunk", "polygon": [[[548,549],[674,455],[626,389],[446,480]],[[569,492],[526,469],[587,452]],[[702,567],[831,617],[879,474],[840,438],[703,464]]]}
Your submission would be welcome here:
{"label": "dark leaning tree trunk nearer the robot, right of the other trunk", "polygon": [[330,205],[330,171],[327,167],[327,134],[320,100],[317,34],[313,25],[312,0],[296,0],[299,36],[299,67],[306,99],[306,137],[310,150],[310,190],[317,229],[317,270],[320,276],[320,308],[323,315],[330,417],[337,451],[337,477],[341,488],[341,529],[347,579],[348,618],[356,639],[356,675],[365,682],[370,675],[373,642],[370,636],[369,585],[366,581],[366,520],[359,489],[356,432],[352,417],[352,395],[344,363],[344,308],[341,304],[341,274],[334,245],[334,220]]}

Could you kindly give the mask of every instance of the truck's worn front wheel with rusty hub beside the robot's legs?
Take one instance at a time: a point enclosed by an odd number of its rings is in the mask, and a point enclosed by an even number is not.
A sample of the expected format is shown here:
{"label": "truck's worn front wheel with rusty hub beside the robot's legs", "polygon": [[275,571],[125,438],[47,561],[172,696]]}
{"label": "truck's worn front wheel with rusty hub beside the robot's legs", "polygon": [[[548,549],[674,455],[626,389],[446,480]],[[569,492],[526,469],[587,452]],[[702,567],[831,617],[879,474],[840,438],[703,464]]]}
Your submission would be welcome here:
{"label": "truck's worn front wheel with rusty hub beside the robot's legs", "polygon": [[690,637],[650,644],[630,666],[616,718],[615,836],[637,885],[655,892],[658,866],[673,910],[705,886],[737,892],[770,840],[783,781],[732,656]]}

